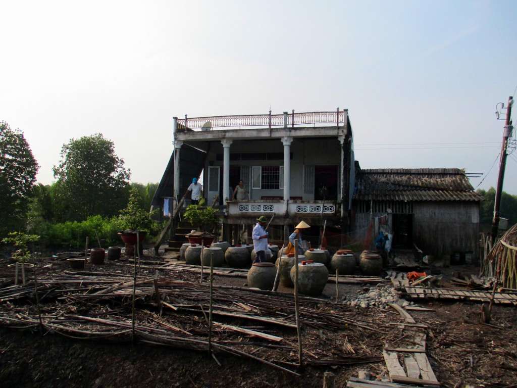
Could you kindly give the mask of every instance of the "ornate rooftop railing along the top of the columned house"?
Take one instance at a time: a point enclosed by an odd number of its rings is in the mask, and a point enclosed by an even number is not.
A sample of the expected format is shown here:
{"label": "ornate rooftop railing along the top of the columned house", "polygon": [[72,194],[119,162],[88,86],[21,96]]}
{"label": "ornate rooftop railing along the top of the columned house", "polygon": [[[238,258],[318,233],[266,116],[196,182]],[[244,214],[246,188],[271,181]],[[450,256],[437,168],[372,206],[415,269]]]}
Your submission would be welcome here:
{"label": "ornate rooftop railing along the top of the columned house", "polygon": [[331,112],[305,112],[287,114],[252,114],[240,116],[207,116],[175,118],[176,130],[183,131],[190,129],[212,129],[232,127],[294,127],[295,125],[346,125],[346,110]]}

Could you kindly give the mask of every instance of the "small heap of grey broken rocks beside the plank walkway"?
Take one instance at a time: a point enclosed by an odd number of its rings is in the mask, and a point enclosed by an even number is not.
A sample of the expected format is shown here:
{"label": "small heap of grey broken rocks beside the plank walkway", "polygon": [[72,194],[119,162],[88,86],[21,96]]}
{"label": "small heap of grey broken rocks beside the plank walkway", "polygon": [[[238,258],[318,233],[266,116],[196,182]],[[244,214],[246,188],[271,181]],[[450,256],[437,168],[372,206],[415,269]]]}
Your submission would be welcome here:
{"label": "small heap of grey broken rocks beside the plank walkway", "polygon": [[362,291],[357,291],[358,295],[347,295],[343,303],[351,307],[377,307],[383,310],[389,308],[390,303],[397,303],[405,307],[413,302],[408,302],[399,298],[397,291],[391,285],[379,283],[376,287],[364,287]]}

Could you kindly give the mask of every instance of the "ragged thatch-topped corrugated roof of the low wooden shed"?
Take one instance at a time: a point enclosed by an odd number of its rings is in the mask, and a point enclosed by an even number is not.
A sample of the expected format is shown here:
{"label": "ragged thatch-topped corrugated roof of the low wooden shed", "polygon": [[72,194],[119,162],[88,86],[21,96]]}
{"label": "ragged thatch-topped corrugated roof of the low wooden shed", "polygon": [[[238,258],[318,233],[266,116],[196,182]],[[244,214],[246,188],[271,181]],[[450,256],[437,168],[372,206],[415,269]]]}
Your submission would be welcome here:
{"label": "ragged thatch-topped corrugated roof of the low wooden shed", "polygon": [[364,169],[354,200],[483,201],[460,169]]}

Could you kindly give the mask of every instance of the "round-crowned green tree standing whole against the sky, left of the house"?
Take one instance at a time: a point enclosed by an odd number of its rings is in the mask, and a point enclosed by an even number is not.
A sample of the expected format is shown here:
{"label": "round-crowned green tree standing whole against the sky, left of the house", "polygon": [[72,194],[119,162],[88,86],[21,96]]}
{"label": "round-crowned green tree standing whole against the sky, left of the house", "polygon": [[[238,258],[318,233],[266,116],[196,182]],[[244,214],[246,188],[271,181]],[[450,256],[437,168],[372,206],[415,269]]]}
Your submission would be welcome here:
{"label": "round-crowned green tree standing whole against the sky, left of the house", "polygon": [[52,199],[57,219],[82,221],[88,216],[111,217],[127,203],[129,170],[115,155],[111,140],[101,133],[70,139],[53,167],[57,178]]}

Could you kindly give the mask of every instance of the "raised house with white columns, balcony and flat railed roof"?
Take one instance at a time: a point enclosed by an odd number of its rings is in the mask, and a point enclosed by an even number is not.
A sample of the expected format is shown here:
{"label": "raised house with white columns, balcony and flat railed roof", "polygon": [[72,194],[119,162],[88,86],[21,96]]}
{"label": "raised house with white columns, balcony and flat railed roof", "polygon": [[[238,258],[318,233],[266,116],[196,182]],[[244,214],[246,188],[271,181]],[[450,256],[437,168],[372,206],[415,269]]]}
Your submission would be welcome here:
{"label": "raised house with white columns, balcony and flat railed roof", "polygon": [[[301,220],[348,230],[355,182],[348,112],[174,117],[174,152],[153,205],[176,205],[193,177],[202,177],[207,204],[224,216],[228,240],[262,215],[273,240],[285,241]],[[232,201],[241,179],[250,199]]]}

